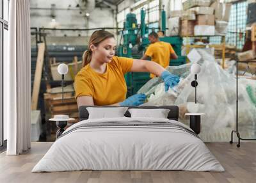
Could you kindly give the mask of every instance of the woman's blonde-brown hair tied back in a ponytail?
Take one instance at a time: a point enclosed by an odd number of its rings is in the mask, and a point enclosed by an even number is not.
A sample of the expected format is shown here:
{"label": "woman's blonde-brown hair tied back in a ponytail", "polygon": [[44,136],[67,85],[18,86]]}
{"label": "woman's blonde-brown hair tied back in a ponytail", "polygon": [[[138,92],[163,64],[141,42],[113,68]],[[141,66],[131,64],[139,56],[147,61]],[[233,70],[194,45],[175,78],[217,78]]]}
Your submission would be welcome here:
{"label": "woman's blonde-brown hair tied back in a ponytail", "polygon": [[100,42],[106,40],[107,38],[114,38],[114,35],[104,30],[94,31],[92,33],[92,36],[90,37],[90,40],[88,42],[88,49],[84,51],[83,54],[83,67],[90,63],[90,61],[92,60],[92,50],[90,49],[90,45],[93,44],[95,46],[98,46]]}

